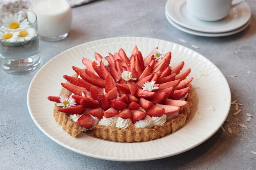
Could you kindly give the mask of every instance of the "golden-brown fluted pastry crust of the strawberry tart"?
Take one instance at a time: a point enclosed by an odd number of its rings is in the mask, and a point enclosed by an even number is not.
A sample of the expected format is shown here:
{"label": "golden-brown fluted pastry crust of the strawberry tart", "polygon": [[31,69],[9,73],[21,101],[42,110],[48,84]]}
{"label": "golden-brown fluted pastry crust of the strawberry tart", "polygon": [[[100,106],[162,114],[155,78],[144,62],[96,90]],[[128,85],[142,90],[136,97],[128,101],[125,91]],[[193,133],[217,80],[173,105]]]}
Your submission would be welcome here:
{"label": "golden-brown fluted pastry crust of the strawberry tart", "polygon": [[[188,86],[191,86],[189,84]],[[71,93],[67,91],[67,96]],[[189,119],[191,109],[193,106],[194,91],[193,88],[188,93],[186,101],[188,104],[183,108],[182,112],[175,118],[166,121],[162,125],[153,126],[152,128],[134,128],[132,124],[129,128],[121,129],[115,126],[107,127],[103,125],[95,125],[94,136],[102,139],[119,142],[135,142],[135,141],[150,141],[159,137],[169,135],[171,132],[175,132],[182,128],[185,121]],[[72,137],[79,135],[83,128],[78,126],[69,116],[65,113],[59,112],[61,107],[54,106],[53,116],[56,122]]]}

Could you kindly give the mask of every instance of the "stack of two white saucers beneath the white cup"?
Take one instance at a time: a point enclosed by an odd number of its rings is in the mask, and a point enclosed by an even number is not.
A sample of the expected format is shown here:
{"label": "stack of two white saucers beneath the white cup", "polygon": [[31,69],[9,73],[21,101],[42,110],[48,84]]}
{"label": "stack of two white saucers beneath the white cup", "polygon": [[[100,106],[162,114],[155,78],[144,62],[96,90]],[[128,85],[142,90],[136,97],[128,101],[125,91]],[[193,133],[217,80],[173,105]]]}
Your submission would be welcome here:
{"label": "stack of two white saucers beneath the white cup", "polygon": [[207,22],[193,16],[186,8],[186,0],[168,0],[165,6],[167,20],[177,29],[193,35],[220,37],[243,31],[251,21],[251,9],[245,2],[229,12],[222,20]]}

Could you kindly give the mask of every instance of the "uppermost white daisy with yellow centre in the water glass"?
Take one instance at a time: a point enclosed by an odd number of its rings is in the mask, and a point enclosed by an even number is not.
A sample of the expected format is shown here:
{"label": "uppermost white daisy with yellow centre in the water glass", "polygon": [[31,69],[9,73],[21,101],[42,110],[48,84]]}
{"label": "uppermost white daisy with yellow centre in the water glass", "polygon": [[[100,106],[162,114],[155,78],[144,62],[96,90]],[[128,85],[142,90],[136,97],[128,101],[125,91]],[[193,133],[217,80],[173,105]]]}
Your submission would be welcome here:
{"label": "uppermost white daisy with yellow centre in the water glass", "polygon": [[14,15],[10,13],[9,16],[5,16],[5,18],[2,19],[2,22],[4,23],[3,28],[7,30],[25,29],[29,26],[27,19],[24,19],[21,14],[18,15],[17,13]]}

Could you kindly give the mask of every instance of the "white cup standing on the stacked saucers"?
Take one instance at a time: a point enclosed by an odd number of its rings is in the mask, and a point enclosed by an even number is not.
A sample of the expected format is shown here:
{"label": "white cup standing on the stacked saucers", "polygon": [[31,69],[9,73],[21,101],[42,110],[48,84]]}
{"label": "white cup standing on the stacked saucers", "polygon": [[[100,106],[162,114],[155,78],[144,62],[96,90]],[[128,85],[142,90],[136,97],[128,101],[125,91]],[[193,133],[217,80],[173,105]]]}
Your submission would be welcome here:
{"label": "white cup standing on the stacked saucers", "polygon": [[231,9],[241,6],[245,0],[232,4],[233,0],[187,0],[186,7],[196,18],[217,21],[229,14]]}

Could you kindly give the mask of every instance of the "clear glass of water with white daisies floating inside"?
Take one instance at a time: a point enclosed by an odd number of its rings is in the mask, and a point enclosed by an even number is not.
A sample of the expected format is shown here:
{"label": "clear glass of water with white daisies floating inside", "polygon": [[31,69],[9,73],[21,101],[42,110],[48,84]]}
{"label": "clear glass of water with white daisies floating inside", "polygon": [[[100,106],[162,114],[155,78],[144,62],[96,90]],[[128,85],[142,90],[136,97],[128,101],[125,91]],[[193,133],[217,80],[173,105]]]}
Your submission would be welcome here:
{"label": "clear glass of water with white daisies floating inside", "polygon": [[0,65],[12,74],[29,73],[40,66],[34,12],[9,9],[0,13]]}

